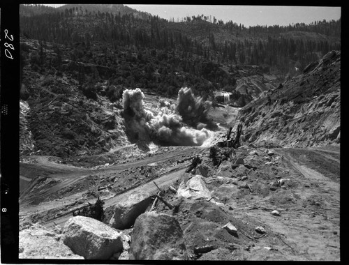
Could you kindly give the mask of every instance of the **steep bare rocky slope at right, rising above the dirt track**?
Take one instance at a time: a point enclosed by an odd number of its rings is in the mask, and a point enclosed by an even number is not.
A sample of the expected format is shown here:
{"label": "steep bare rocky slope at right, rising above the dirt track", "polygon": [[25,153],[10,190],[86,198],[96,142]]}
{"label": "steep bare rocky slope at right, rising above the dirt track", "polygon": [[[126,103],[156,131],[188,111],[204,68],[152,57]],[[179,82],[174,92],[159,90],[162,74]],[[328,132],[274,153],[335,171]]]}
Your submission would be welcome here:
{"label": "steep bare rocky slope at right, rising above the dirt track", "polygon": [[309,64],[302,75],[266,91],[239,112],[244,141],[322,146],[341,138],[341,52]]}

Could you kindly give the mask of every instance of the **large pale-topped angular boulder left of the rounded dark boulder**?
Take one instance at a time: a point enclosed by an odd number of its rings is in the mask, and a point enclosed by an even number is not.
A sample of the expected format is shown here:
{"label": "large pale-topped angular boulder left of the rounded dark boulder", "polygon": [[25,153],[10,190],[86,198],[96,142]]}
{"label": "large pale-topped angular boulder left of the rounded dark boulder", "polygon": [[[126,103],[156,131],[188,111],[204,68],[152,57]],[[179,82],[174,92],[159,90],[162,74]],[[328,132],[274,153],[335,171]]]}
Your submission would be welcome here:
{"label": "large pale-topped angular boulder left of the rounded dark boulder", "polygon": [[96,219],[75,216],[64,226],[61,240],[85,259],[109,259],[121,252],[121,234]]}

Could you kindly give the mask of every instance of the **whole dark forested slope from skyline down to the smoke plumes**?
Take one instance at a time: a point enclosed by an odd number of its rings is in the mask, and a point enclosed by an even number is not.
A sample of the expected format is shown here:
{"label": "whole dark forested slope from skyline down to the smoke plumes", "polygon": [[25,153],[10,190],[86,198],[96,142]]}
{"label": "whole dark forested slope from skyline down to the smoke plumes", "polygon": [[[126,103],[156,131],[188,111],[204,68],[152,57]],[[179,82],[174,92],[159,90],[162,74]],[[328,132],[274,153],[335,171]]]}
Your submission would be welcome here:
{"label": "whole dark forested slope from skyline down to the smoke plumes", "polygon": [[[43,46],[31,58],[38,65],[47,63],[45,43],[54,43],[57,66],[62,59],[106,66],[112,84],[168,96],[181,86],[204,96],[216,89],[235,92],[241,67],[292,76],[330,50],[341,49],[341,19],[247,28],[210,15],[168,21],[122,5],[22,5],[20,15],[22,36]],[[87,82],[83,73],[79,76]]]}

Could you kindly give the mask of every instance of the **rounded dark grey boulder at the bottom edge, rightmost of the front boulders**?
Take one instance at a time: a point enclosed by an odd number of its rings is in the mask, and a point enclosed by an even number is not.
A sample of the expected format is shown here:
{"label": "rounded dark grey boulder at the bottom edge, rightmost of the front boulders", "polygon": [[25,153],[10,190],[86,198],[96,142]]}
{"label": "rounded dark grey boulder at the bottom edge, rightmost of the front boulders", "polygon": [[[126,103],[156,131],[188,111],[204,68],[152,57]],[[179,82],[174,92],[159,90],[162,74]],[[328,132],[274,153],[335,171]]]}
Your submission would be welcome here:
{"label": "rounded dark grey boulder at the bottom edge, rightmost of the front boulders", "polygon": [[163,213],[140,215],[131,235],[130,259],[188,259],[179,222]]}

